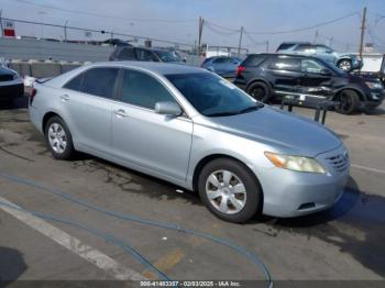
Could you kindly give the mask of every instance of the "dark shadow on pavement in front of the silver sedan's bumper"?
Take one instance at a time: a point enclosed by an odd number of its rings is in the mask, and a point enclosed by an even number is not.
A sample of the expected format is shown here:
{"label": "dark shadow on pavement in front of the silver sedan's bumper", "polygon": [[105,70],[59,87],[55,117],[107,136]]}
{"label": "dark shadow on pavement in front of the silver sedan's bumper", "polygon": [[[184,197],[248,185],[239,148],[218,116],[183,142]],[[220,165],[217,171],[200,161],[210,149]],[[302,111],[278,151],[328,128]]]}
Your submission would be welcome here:
{"label": "dark shadow on pavement in front of the silver sedan's bumper", "polygon": [[305,235],[308,241],[319,239],[385,277],[384,208],[385,197],[362,191],[350,178],[334,208],[300,218],[265,218],[265,234],[278,237],[280,232],[288,232]]}

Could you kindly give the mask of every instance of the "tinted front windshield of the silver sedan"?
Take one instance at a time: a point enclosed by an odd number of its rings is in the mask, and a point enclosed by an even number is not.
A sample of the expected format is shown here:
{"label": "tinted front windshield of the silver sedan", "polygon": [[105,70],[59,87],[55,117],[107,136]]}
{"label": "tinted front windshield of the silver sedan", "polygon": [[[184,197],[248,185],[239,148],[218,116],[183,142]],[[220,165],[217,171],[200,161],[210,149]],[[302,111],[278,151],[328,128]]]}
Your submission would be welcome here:
{"label": "tinted front windshield of the silver sedan", "polygon": [[228,80],[209,73],[166,75],[184,97],[206,117],[246,113],[262,108]]}

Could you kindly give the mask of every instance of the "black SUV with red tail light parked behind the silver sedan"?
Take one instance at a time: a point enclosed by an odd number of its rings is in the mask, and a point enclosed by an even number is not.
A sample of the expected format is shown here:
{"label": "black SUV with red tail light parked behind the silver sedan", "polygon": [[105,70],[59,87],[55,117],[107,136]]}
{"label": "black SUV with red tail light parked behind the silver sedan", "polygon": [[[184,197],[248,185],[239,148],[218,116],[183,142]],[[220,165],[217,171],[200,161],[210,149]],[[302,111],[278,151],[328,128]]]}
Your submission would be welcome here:
{"label": "black SUV with red tail light parked behind the silver sedan", "polygon": [[380,80],[363,79],[309,56],[252,54],[237,69],[234,84],[258,101],[285,95],[320,96],[339,101],[338,112],[375,108],[384,100]]}

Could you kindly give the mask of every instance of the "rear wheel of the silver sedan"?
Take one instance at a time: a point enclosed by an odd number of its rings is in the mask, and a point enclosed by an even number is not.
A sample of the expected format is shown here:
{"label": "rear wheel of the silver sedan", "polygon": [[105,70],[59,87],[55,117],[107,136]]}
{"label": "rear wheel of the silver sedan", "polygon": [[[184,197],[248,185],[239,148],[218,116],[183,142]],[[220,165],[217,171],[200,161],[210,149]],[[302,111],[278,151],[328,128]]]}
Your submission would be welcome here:
{"label": "rear wheel of the silver sedan", "polygon": [[45,125],[45,140],[57,159],[68,159],[74,154],[73,137],[66,123],[58,117],[51,118]]}

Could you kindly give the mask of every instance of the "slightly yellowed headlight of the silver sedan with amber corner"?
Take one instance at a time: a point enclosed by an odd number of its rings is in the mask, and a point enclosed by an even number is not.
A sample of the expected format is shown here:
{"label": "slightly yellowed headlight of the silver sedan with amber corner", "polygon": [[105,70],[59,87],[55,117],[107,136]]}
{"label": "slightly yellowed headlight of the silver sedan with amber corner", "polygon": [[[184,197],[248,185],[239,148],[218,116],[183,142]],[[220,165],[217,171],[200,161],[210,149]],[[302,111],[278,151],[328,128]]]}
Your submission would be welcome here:
{"label": "slightly yellowed headlight of the silver sedan with amber corner", "polygon": [[272,152],[265,152],[265,155],[278,168],[294,171],[327,173],[315,158],[275,154]]}

